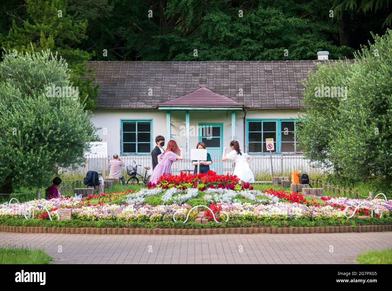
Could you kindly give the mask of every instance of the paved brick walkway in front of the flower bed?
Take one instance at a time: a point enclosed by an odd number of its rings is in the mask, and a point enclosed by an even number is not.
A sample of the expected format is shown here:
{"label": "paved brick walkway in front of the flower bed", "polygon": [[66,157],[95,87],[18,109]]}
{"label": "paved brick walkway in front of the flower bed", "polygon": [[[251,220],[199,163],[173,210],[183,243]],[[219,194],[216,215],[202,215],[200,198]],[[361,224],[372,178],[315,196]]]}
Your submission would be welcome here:
{"label": "paved brick walkway in front of the flower bed", "polygon": [[60,264],[355,264],[392,232],[303,235],[63,235],[0,232],[0,246],[44,249]]}

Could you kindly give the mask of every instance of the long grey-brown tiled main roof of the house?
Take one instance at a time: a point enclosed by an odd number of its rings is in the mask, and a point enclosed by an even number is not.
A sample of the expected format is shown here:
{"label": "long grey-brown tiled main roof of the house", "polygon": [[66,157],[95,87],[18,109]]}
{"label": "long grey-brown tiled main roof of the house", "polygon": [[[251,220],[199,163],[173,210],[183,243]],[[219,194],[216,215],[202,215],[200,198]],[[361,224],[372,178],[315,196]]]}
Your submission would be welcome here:
{"label": "long grey-brown tiled main roof of the house", "polygon": [[[87,62],[100,83],[98,108],[153,108],[207,87],[253,108],[303,107],[306,61]],[[242,94],[241,94],[242,93]]]}

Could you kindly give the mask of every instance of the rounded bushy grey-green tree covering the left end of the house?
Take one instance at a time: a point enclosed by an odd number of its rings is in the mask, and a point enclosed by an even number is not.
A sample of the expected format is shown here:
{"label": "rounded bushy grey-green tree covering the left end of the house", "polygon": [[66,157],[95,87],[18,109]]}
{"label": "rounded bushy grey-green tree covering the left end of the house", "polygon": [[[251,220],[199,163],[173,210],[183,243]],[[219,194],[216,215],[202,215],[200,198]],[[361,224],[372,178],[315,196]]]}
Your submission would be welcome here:
{"label": "rounded bushy grey-green tree covering the left end of the house", "polygon": [[83,110],[83,105],[71,94],[71,86],[67,63],[49,49],[20,53],[17,57],[3,54],[1,193],[48,185],[57,166],[83,164],[83,153],[89,149],[89,142],[96,140],[96,129],[90,121],[90,112]]}

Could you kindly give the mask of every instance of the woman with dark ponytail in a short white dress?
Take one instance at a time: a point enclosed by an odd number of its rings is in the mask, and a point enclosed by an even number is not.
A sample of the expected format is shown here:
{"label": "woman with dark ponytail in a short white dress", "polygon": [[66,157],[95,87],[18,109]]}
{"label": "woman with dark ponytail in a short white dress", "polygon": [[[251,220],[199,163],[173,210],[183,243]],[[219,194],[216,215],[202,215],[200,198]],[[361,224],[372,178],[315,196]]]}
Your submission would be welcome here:
{"label": "woman with dark ponytail in a short white dress", "polygon": [[247,182],[254,183],[254,176],[249,168],[249,163],[253,160],[251,156],[240,150],[240,144],[236,140],[230,142],[232,151],[226,155],[227,147],[223,149],[222,160],[232,160],[236,163],[233,175],[236,175],[241,180],[241,185]]}

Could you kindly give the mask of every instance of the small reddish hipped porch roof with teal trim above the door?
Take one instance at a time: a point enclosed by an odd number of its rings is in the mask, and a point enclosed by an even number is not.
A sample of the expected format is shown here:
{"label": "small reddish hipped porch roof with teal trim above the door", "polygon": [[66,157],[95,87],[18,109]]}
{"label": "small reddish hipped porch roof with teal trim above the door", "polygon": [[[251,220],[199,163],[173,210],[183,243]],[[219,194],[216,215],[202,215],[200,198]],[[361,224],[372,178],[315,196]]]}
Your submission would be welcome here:
{"label": "small reddish hipped porch roof with teal trim above the door", "polygon": [[191,109],[192,107],[200,109],[242,109],[244,105],[225,95],[215,93],[207,87],[200,87],[191,93],[158,104],[159,109]]}

